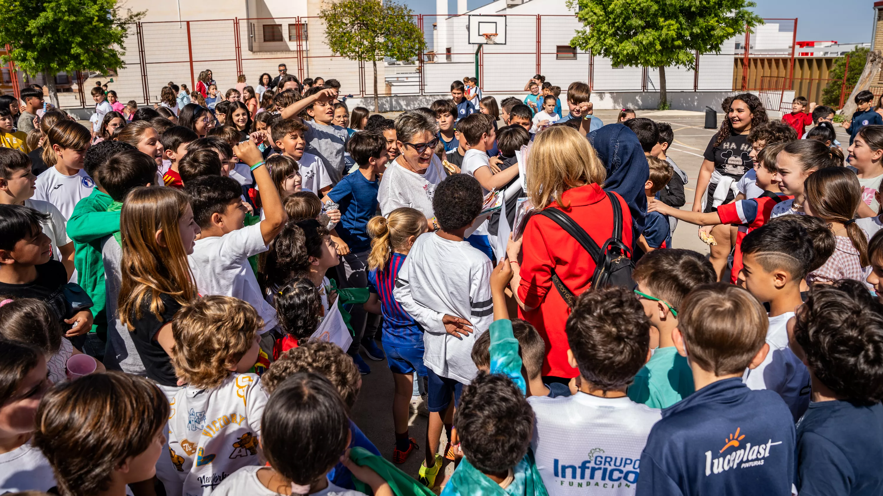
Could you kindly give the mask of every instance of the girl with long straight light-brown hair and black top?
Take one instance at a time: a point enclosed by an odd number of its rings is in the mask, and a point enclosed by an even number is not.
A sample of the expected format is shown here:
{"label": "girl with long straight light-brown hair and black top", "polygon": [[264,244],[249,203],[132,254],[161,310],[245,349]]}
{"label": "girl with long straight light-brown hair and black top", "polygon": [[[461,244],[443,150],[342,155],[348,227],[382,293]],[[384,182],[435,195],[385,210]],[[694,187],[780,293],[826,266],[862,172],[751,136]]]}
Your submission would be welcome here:
{"label": "girl with long straight light-brown hair and black top", "polygon": [[119,223],[123,249],[119,319],[129,328],[147,379],[174,395],[171,319],[197,296],[187,255],[193,252],[200,227],[193,221],[187,195],[174,188],[132,190],[123,202]]}

